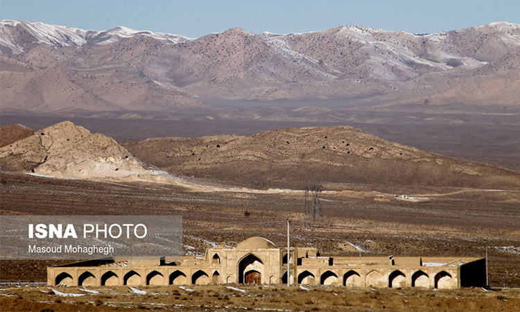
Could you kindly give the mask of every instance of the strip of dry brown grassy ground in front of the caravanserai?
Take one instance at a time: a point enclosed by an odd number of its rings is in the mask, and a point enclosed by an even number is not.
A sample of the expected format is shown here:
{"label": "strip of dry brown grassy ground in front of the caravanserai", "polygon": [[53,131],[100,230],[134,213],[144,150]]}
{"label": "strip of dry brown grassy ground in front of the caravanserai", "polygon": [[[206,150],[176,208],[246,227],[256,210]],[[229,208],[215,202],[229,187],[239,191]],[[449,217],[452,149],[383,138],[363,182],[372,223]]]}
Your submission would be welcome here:
{"label": "strip of dry brown grassy ground in front of the caravanserai", "polygon": [[[333,286],[2,286],[2,311],[519,311],[520,290],[456,291]],[[53,292],[58,291],[58,295]],[[137,289],[137,288],[135,288]],[[239,289],[239,290],[237,290]],[[81,294],[70,297],[65,294]]]}

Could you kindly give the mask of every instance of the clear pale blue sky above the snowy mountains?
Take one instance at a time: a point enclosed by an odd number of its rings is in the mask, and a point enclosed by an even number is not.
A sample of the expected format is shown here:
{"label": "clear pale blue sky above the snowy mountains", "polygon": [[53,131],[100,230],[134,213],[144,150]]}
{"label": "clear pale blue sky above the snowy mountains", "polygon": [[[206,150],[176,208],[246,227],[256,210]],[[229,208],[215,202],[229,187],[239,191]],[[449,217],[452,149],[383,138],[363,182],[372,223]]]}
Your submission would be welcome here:
{"label": "clear pale blue sky above the snowy mountains", "polygon": [[89,30],[126,26],[187,37],[233,27],[304,33],[343,25],[437,33],[492,21],[520,24],[520,0],[0,0],[0,18]]}

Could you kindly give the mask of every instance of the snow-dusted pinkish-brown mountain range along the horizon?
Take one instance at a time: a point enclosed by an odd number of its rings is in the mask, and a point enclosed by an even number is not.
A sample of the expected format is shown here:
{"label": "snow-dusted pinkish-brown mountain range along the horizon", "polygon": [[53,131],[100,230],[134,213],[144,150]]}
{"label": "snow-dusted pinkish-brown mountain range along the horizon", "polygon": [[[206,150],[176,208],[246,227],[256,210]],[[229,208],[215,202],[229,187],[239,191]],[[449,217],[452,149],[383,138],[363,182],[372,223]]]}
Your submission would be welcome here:
{"label": "snow-dusted pinkish-brown mountain range along the horizon", "polygon": [[520,25],[507,22],[435,34],[340,26],[187,38],[1,20],[0,51],[3,114],[164,111],[208,99],[492,107],[520,99]]}

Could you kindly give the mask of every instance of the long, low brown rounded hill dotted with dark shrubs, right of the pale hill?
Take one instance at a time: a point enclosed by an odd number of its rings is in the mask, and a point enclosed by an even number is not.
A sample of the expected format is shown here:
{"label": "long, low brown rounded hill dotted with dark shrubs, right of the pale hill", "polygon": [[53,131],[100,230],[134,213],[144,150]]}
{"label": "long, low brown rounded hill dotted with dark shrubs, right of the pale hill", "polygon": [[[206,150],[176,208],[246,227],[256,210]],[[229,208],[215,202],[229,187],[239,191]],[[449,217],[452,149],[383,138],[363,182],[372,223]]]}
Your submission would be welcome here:
{"label": "long, low brown rounded hill dotted with dark shrubs, right of the pale hill", "polygon": [[520,173],[395,144],[350,127],[278,129],[249,137],[123,144],[166,171],[252,187],[310,183],[520,189]]}

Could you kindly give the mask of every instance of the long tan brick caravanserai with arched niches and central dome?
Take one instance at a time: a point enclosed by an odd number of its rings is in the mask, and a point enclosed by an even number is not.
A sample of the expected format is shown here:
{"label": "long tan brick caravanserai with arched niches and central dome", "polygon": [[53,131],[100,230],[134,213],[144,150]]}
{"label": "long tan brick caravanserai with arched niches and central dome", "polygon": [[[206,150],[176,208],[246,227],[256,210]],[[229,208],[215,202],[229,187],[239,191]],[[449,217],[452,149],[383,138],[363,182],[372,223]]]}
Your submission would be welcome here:
{"label": "long tan brick caravanserai with arched niches and central dome", "polygon": [[[291,248],[291,284],[373,288],[485,286],[485,259],[456,257],[322,257]],[[55,286],[287,284],[287,249],[261,237],[236,248],[209,248],[205,257],[107,259],[47,268]]]}

